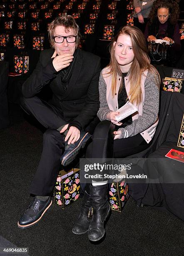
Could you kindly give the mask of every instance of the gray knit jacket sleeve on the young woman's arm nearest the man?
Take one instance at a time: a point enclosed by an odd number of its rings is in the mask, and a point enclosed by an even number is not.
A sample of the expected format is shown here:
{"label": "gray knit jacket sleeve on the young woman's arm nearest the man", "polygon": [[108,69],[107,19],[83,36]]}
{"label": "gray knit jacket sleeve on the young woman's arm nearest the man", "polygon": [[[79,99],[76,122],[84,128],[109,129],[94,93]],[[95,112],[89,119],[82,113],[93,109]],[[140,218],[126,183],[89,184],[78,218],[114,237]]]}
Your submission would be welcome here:
{"label": "gray knit jacket sleeve on the young woman's arm nearest the man", "polygon": [[107,105],[106,99],[106,91],[107,91],[107,84],[102,76],[102,71],[99,76],[99,110],[97,113],[97,117],[100,121],[106,120],[106,116],[111,110]]}

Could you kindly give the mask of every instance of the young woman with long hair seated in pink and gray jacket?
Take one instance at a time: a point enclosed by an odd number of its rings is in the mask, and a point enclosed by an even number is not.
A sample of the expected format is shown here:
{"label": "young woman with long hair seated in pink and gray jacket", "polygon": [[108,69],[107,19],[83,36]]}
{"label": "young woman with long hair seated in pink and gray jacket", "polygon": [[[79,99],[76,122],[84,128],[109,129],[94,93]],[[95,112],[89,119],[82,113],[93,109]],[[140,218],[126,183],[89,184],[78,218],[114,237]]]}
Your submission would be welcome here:
{"label": "young woman with long hair seated in pink and gray jacket", "polygon": [[[87,159],[98,158],[104,163],[107,158],[130,156],[149,146],[158,123],[159,85],[159,74],[150,65],[143,33],[134,26],[121,28],[110,46],[110,63],[100,74],[97,116],[101,122],[87,147]],[[118,109],[127,100],[137,112],[117,122]],[[88,232],[90,241],[104,236],[104,220],[110,210],[107,181],[100,182],[92,180],[86,186],[72,230],[78,235]]]}

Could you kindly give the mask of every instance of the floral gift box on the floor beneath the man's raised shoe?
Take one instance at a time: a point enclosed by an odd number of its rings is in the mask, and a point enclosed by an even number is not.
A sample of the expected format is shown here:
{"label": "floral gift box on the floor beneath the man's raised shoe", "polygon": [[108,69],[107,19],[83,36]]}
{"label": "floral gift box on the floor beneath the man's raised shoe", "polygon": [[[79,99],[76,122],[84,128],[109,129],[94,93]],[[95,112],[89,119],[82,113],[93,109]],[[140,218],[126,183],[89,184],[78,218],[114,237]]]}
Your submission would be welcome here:
{"label": "floral gift box on the floor beneath the man's raised shoe", "polygon": [[71,169],[69,172],[59,172],[54,189],[54,202],[65,209],[67,205],[75,202],[80,196],[80,169]]}

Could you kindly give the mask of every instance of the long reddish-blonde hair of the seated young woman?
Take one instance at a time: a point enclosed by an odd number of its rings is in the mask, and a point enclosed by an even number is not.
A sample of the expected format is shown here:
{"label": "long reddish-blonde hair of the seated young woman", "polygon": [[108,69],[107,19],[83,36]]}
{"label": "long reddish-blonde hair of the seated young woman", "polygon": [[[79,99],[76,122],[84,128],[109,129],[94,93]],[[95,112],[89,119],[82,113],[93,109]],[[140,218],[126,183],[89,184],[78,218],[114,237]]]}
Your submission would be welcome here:
{"label": "long reddish-blonde hair of the seated young woman", "polygon": [[119,64],[114,56],[114,42],[117,42],[119,35],[125,34],[130,36],[132,41],[132,49],[134,52],[134,60],[132,62],[130,73],[129,73],[129,82],[130,82],[130,91],[129,91],[129,101],[136,102],[139,104],[142,101],[142,90],[141,90],[141,77],[142,72],[150,69],[150,59],[148,56],[147,45],[144,39],[142,31],[135,26],[125,26],[120,28],[117,35],[112,40],[110,45],[110,62],[108,67],[110,71],[108,74],[112,75],[112,97],[116,92],[117,85],[117,74],[122,76],[121,69]]}

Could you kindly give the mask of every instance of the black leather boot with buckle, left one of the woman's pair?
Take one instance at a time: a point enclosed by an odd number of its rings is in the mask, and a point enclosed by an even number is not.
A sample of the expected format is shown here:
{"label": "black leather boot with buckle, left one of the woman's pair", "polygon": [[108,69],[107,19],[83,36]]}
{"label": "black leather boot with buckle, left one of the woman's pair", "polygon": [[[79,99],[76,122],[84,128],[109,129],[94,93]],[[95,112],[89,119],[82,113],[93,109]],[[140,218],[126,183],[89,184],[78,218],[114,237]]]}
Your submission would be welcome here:
{"label": "black leather boot with buckle, left one of the woman's pair", "polygon": [[92,215],[92,202],[90,195],[85,191],[79,217],[74,224],[72,232],[76,235],[87,233]]}

